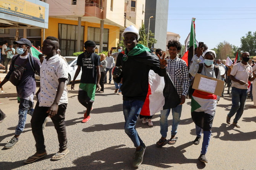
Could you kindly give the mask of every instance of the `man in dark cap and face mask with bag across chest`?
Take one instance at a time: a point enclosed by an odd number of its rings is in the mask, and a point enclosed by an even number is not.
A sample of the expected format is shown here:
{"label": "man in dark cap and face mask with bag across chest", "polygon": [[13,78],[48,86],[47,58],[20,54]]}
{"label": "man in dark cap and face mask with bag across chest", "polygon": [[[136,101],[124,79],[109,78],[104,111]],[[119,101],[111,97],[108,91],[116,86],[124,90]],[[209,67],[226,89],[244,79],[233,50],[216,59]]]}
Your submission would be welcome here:
{"label": "man in dark cap and face mask with bag across chest", "polygon": [[36,81],[35,72],[40,73],[40,61],[29,54],[29,49],[31,48],[31,42],[26,38],[21,38],[19,41],[14,41],[14,44],[18,45],[16,49],[17,55],[13,56],[11,60],[11,65],[8,74],[0,83],[0,88],[9,80],[11,73],[18,67],[24,67],[24,72],[21,80],[16,86],[18,102],[19,102],[19,122],[15,130],[15,135],[11,140],[5,145],[4,148],[10,149],[15,146],[19,141],[19,135],[23,131],[26,123],[27,114],[33,114],[33,98],[36,94]]}

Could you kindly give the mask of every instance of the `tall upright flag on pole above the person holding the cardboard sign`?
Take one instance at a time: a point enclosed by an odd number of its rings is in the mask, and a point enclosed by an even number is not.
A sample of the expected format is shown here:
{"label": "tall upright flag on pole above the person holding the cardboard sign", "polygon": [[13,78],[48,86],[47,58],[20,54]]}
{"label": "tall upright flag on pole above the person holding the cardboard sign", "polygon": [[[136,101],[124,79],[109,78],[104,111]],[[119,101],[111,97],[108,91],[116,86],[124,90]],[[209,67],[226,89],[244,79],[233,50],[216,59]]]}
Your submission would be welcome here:
{"label": "tall upright flag on pole above the person holding the cardboard sign", "polygon": [[191,60],[194,56],[194,49],[197,48],[197,44],[196,44],[196,29],[195,29],[195,18],[192,18],[192,22],[191,22],[191,29],[190,29],[190,45],[188,48],[188,66],[191,63]]}

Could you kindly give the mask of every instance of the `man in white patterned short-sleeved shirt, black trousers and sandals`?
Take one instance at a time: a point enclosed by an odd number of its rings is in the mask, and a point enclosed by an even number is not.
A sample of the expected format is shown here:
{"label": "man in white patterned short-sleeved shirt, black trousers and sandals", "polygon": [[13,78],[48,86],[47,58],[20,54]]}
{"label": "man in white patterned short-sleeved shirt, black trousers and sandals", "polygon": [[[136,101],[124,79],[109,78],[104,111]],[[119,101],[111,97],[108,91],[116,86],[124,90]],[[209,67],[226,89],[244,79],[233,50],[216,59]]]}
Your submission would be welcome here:
{"label": "man in white patterned short-sleeved shirt, black trousers and sandals", "polygon": [[42,125],[50,116],[58,134],[59,151],[52,160],[62,159],[69,153],[67,149],[65,112],[68,104],[68,90],[65,81],[68,79],[68,65],[56,53],[59,40],[46,37],[42,53],[46,55],[40,72],[40,88],[36,95],[38,101],[31,119],[32,133],[36,140],[36,153],[24,163],[29,164],[47,155],[44,145]]}

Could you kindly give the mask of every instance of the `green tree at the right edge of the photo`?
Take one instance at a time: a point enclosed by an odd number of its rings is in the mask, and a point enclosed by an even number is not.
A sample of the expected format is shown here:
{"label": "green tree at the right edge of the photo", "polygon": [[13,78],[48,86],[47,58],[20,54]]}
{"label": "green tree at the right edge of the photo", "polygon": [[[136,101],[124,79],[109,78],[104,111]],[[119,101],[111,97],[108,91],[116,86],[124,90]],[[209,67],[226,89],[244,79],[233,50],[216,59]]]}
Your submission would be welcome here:
{"label": "green tree at the right edge of the photo", "polygon": [[248,51],[251,56],[256,56],[256,32],[249,31],[241,38],[241,51]]}

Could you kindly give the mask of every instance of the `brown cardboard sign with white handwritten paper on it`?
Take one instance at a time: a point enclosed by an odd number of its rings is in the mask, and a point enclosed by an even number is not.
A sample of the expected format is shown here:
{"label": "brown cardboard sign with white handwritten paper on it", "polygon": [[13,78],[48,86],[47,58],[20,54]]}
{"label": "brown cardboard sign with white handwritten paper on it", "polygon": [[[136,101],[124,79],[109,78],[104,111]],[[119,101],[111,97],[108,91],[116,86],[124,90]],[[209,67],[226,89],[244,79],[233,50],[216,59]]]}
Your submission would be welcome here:
{"label": "brown cardboard sign with white handwritten paper on it", "polygon": [[225,82],[196,73],[192,88],[221,96]]}

